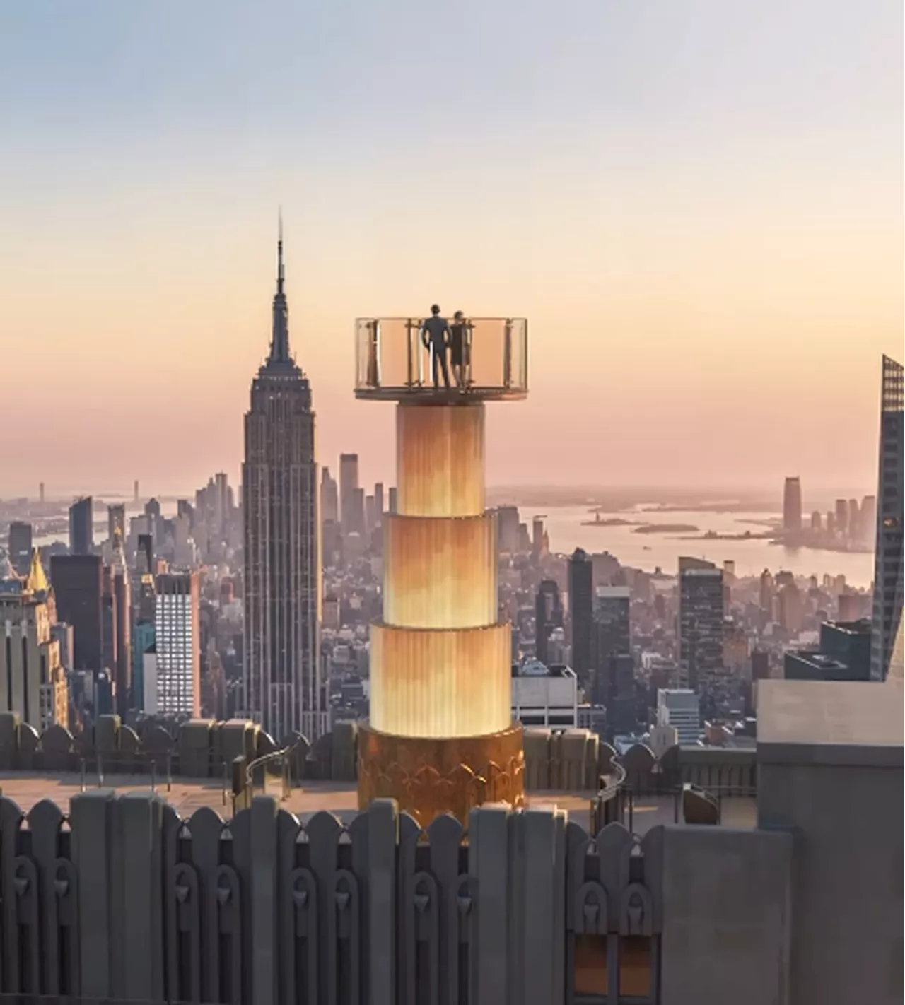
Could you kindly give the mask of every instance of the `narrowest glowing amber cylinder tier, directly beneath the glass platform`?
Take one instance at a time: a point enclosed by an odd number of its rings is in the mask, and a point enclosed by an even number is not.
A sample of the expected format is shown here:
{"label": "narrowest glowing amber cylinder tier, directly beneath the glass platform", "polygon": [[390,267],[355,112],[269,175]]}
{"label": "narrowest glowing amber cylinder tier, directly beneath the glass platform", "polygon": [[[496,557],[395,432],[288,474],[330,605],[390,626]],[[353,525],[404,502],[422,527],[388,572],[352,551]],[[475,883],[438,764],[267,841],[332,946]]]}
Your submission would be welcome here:
{"label": "narrowest glowing amber cylinder tier, directly beneath the glass platform", "polygon": [[482,404],[396,406],[396,485],[407,517],[484,513]]}

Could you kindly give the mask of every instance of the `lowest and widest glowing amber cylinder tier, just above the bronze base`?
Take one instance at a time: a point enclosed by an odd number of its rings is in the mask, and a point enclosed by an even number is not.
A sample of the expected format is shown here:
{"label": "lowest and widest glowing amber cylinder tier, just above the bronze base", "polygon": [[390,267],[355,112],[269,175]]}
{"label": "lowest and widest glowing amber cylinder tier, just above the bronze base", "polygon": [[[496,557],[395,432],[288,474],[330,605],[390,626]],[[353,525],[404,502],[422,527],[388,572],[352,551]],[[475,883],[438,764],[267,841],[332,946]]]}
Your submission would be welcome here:
{"label": "lowest and widest glowing amber cylinder tier, just above the bronze base", "polygon": [[419,629],[371,625],[371,725],[401,737],[499,733],[512,721],[508,623]]}

